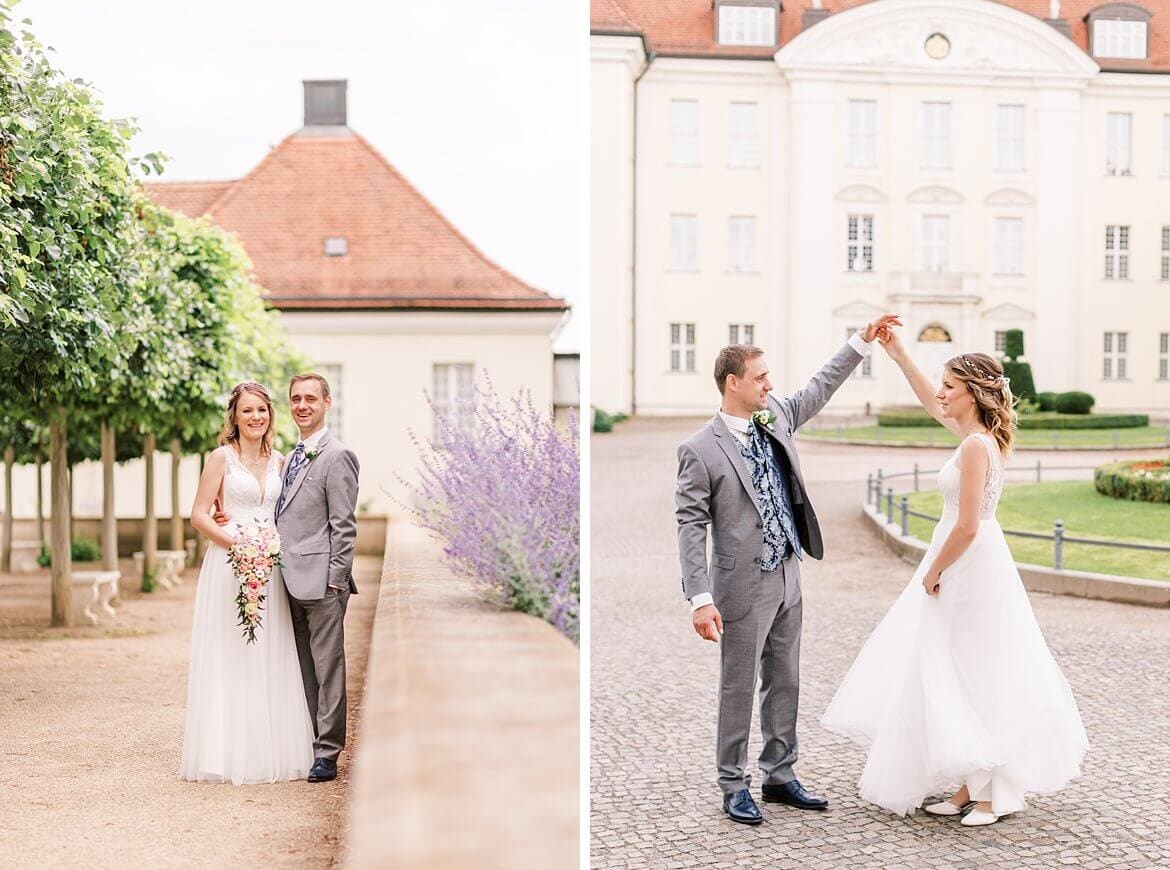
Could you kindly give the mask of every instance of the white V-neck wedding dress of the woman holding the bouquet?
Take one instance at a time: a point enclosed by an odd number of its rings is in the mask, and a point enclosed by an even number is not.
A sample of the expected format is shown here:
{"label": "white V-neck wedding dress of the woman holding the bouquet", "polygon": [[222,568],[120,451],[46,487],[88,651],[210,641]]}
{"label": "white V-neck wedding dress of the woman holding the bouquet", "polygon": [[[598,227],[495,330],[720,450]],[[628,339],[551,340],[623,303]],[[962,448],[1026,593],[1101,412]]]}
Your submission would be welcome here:
{"label": "white V-neck wedding dress of the woman holding the bouquet", "polygon": [[[230,447],[220,450],[223,512],[236,523],[273,523],[280,468],[268,463],[263,491]],[[187,716],[179,779],[193,782],[276,782],[304,779],[312,767],[312,723],[292,638],[280,568],[268,582],[255,643],[238,624],[236,579],[227,551],[207,547],[195,591],[187,672]]]}

